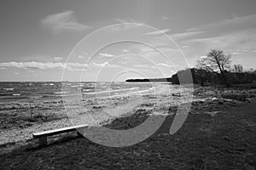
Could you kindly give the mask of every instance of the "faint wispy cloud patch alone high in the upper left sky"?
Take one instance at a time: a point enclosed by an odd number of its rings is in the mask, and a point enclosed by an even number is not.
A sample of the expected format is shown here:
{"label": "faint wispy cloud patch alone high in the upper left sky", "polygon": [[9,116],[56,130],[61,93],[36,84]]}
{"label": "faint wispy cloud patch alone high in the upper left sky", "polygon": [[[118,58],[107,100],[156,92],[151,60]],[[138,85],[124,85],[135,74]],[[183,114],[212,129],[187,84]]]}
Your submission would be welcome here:
{"label": "faint wispy cloud patch alone high in the upper left sky", "polygon": [[49,26],[54,31],[84,31],[89,28],[78,22],[75,14],[71,10],[58,14],[51,14],[42,20],[42,24]]}

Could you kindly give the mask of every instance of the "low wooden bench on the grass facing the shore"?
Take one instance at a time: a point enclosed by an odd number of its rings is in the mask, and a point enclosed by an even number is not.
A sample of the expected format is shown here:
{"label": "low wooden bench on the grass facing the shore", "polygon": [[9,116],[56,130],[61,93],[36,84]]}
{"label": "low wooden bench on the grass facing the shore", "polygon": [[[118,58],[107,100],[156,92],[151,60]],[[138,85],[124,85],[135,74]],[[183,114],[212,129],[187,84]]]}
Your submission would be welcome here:
{"label": "low wooden bench on the grass facing the shore", "polygon": [[48,136],[53,136],[55,134],[61,134],[61,133],[75,132],[75,131],[77,131],[78,135],[81,136],[81,134],[79,133],[79,129],[82,129],[84,127],[88,127],[88,125],[64,127],[64,128],[59,128],[55,130],[44,131],[42,133],[33,133],[32,135],[33,135],[33,139],[39,139],[39,146],[45,146],[47,145]]}

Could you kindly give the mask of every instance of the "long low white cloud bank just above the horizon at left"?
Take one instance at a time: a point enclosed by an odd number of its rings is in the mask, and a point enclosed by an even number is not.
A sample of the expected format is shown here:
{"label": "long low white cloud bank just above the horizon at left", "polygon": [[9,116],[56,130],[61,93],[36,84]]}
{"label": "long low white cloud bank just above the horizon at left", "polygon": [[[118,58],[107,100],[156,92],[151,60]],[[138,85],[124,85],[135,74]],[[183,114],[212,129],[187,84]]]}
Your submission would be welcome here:
{"label": "long low white cloud bank just above the horizon at left", "polygon": [[0,69],[8,68],[19,68],[19,69],[38,69],[38,70],[48,70],[48,69],[67,69],[70,71],[83,70],[84,64],[80,63],[61,63],[61,62],[5,62],[0,63]]}

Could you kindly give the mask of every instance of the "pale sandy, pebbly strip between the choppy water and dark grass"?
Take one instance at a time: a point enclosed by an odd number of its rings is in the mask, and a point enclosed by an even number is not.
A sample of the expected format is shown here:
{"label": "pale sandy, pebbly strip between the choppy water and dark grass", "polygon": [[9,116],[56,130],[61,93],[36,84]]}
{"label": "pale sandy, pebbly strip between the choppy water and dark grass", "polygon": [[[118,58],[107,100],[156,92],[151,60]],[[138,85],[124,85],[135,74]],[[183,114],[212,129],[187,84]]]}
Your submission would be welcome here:
{"label": "pale sandy, pebbly strip between the choppy water and dark grass", "polygon": [[32,108],[23,102],[1,103],[0,145],[5,150],[8,146],[13,148],[15,145],[20,146],[31,141],[32,133],[79,124],[95,126],[112,122],[119,116],[131,115],[136,111],[160,111],[164,114],[170,106],[186,102],[187,96],[193,95],[190,88],[177,88],[171,94],[166,88],[168,86],[164,87],[154,94],[83,99],[82,102],[72,99],[69,103],[65,102],[65,108],[61,100],[34,101]]}

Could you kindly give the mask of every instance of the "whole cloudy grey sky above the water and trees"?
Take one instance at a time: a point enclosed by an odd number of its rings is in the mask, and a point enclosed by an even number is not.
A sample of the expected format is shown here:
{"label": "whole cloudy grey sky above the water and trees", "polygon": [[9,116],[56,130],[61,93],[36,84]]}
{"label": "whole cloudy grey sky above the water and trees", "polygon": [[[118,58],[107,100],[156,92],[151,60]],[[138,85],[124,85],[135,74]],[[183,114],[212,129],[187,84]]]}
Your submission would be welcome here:
{"label": "whole cloudy grey sky above the water and trees", "polygon": [[256,69],[255,0],[3,0],[0,81],[171,77],[212,48]]}

